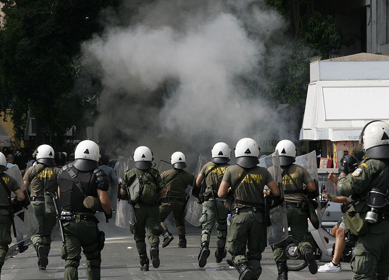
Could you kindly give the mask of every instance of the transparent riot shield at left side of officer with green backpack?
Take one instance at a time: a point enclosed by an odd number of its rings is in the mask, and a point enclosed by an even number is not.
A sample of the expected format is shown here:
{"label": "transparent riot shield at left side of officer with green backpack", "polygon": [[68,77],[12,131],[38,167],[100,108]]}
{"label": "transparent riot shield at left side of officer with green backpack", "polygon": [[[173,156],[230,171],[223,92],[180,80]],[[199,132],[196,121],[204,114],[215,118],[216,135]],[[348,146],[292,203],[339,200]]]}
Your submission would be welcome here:
{"label": "transparent riot shield at left side of officer with green backpack", "polygon": [[[118,172],[118,182],[119,184],[122,183],[124,174],[128,170],[130,163],[129,158],[125,157],[119,157],[119,172]],[[118,198],[117,198],[117,204],[116,204],[116,217],[115,217],[115,223],[118,227],[125,227],[129,228],[132,223],[135,223],[135,216],[133,214],[133,208],[129,204],[128,200],[119,199],[119,191],[120,188],[118,188]]]}

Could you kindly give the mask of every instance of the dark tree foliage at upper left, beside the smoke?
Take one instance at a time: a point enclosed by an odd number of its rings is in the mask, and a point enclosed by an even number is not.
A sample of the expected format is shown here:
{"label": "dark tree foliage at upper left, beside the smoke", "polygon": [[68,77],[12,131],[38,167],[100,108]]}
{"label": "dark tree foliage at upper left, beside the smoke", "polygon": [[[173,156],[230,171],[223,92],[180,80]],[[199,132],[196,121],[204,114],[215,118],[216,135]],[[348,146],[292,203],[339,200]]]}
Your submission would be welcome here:
{"label": "dark tree foliage at upper left, beside the smoke", "polygon": [[[101,30],[99,13],[115,0],[14,0],[5,2],[0,30],[0,110],[12,104],[16,138],[30,109],[38,132],[63,142],[72,125],[93,109],[94,85],[74,87],[80,43]],[[47,141],[47,140],[46,140]]]}

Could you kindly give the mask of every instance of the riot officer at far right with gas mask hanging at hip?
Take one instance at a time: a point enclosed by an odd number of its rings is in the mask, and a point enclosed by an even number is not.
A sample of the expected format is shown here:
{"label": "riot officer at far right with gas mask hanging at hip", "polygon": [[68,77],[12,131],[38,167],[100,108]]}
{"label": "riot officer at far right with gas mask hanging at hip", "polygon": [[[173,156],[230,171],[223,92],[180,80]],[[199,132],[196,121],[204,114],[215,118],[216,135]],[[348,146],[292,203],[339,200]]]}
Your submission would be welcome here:
{"label": "riot officer at far right with gas mask hanging at hip", "polygon": [[[351,260],[353,279],[388,279],[389,124],[383,121],[366,124],[359,141],[363,143],[365,159],[352,174],[347,174],[345,168],[340,169],[337,183],[339,195],[352,195],[354,201],[349,206],[354,206],[359,219],[369,221],[359,232],[354,232],[359,237]],[[351,229],[347,215],[348,212],[343,218],[346,228]]]}

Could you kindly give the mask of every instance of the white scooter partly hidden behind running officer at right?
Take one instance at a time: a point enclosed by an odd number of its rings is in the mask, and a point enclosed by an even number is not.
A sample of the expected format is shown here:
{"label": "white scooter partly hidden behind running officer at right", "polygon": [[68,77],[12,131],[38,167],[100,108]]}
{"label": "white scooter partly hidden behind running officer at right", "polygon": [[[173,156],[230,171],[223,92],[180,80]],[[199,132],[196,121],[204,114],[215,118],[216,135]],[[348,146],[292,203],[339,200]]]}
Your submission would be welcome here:
{"label": "white scooter partly hidden behind running officer at right", "polygon": [[[329,206],[328,201],[326,199],[320,200],[320,209],[321,213],[326,212],[327,207]],[[330,262],[332,260],[332,256],[335,250],[335,236],[331,235],[321,224],[318,229],[313,227],[308,220],[308,231],[312,235],[313,245],[315,246],[315,259],[320,262]],[[286,256],[287,261],[286,264],[288,266],[289,271],[299,271],[307,266],[302,254],[297,247],[296,244],[293,243],[293,237],[290,234],[286,240]],[[350,262],[353,250],[354,250],[354,242],[346,239],[346,247],[343,251],[341,261],[342,262]]]}

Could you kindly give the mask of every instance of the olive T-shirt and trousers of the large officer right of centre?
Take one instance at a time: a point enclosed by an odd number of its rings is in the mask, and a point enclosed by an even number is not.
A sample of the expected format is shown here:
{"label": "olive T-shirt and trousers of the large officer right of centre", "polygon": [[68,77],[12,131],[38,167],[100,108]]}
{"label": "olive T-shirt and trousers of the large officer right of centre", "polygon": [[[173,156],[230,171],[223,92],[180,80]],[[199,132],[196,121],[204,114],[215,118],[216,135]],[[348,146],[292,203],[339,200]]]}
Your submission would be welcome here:
{"label": "olive T-shirt and trousers of the large officer right of centre", "polygon": [[[265,250],[263,205],[264,187],[273,181],[270,173],[263,167],[254,166],[242,182],[238,182],[244,169],[239,165],[227,167],[223,181],[231,186],[233,195],[233,215],[228,230],[228,252],[236,267],[245,263],[251,266],[252,279],[262,273],[261,259]],[[247,253],[246,253],[247,246]]]}

